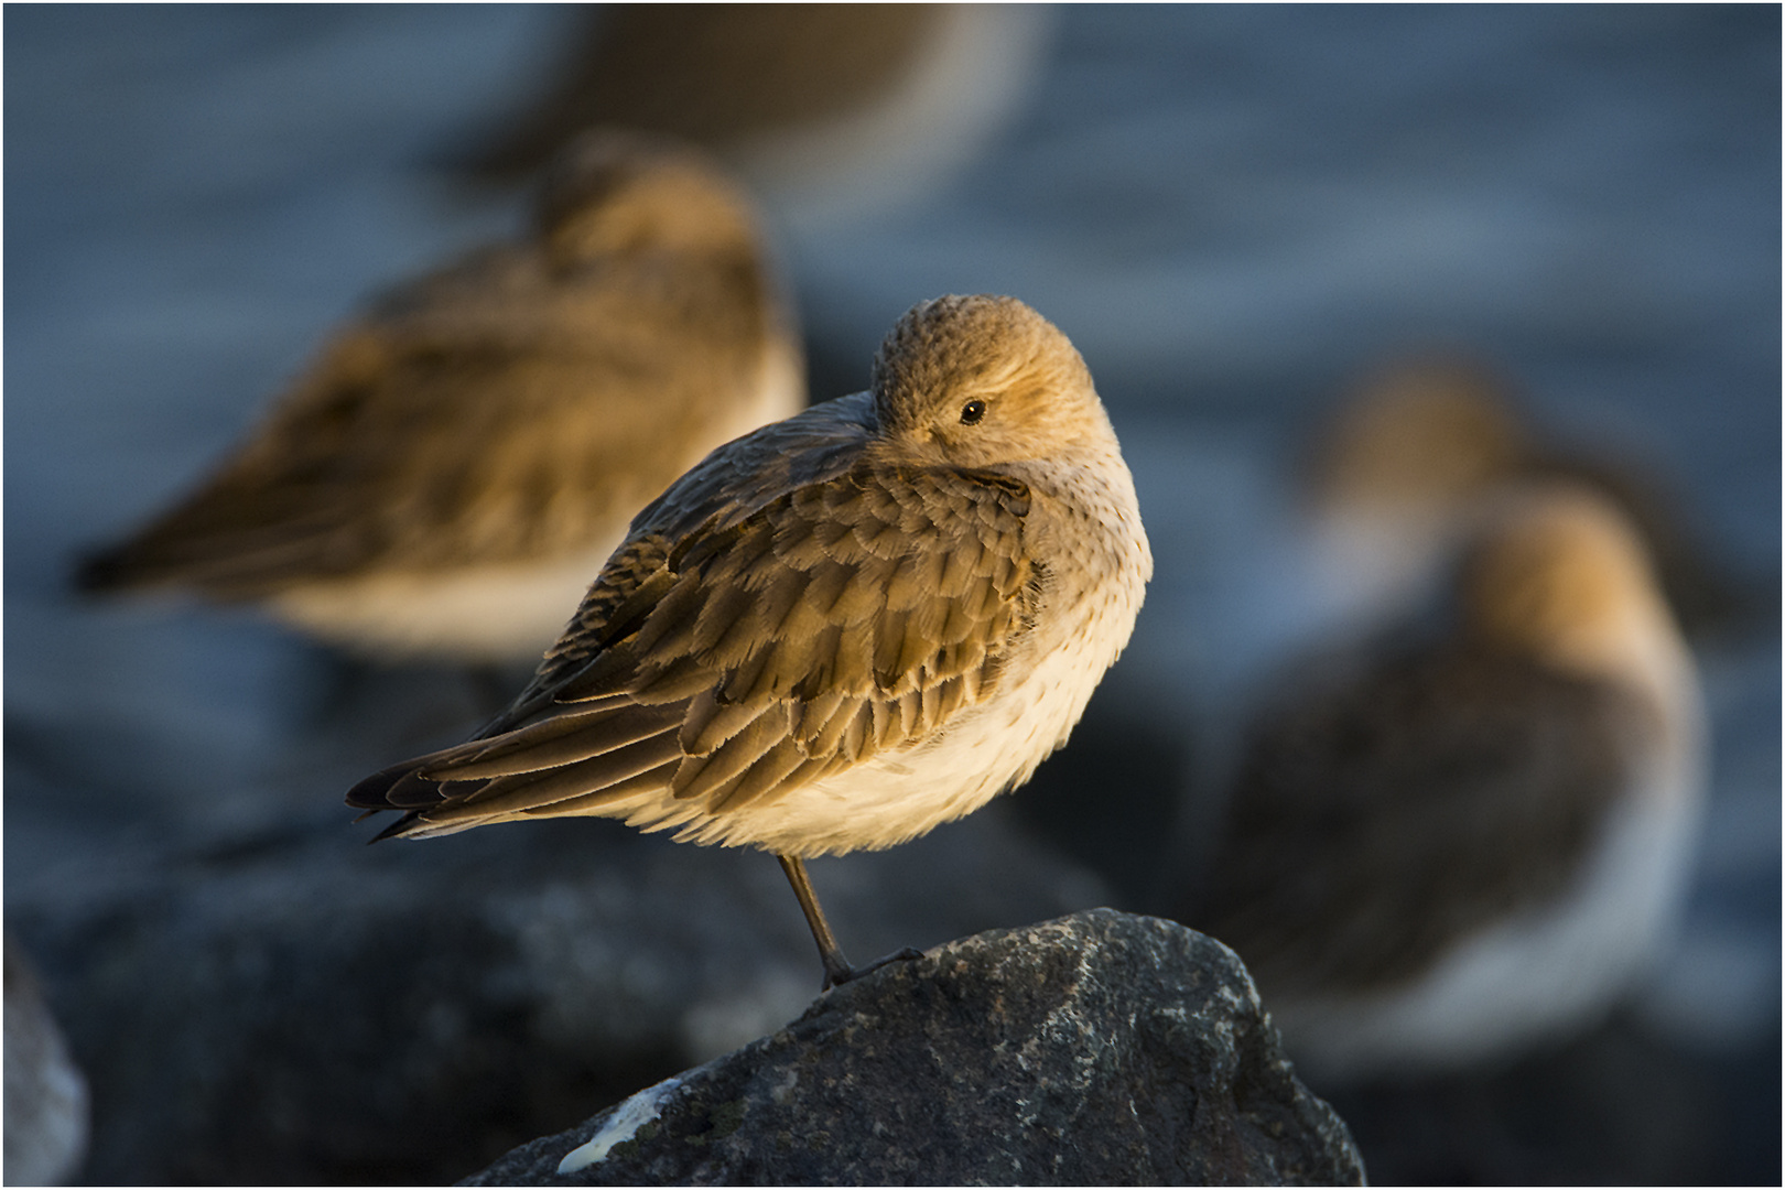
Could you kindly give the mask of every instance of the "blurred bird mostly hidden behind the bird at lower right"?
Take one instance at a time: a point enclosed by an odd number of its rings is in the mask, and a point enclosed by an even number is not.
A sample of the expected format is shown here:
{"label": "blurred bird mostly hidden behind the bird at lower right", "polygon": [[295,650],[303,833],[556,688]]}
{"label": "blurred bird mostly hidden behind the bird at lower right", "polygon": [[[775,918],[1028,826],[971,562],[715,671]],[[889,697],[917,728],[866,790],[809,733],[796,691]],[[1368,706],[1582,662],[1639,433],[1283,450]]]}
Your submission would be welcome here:
{"label": "blurred bird mostly hidden behind the bird at lower right", "polygon": [[1366,376],[1314,446],[1307,476],[1316,566],[1342,617],[1367,621],[1430,592],[1476,505],[1507,483],[1578,480],[1623,507],[1689,632],[1751,610],[1705,553],[1653,467],[1546,441],[1512,385],[1457,355]]}

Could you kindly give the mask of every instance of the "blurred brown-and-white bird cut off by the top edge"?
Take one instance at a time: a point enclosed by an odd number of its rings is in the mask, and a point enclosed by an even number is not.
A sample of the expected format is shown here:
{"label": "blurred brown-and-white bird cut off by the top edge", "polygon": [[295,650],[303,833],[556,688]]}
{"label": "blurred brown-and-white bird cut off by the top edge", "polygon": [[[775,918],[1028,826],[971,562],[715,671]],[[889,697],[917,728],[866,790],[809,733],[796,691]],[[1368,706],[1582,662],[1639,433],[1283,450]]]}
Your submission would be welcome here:
{"label": "blurred brown-and-white bird cut off by the top edge", "polygon": [[518,177],[591,125],[687,137],[780,214],[898,205],[966,164],[1021,103],[1048,14],[1007,4],[612,4],[469,162]]}

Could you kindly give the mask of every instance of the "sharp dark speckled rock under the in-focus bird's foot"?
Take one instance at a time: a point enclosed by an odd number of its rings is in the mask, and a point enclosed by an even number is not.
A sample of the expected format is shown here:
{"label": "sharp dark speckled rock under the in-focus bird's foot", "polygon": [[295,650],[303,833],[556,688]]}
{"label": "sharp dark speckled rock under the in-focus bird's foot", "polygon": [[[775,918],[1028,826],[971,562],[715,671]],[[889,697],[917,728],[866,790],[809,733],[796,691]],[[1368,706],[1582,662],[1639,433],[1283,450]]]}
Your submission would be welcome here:
{"label": "sharp dark speckled rock under the in-focus bird's foot", "polygon": [[1239,958],[1112,910],[884,967],[462,1185],[557,1183],[560,1161],[582,1185],[1364,1178]]}

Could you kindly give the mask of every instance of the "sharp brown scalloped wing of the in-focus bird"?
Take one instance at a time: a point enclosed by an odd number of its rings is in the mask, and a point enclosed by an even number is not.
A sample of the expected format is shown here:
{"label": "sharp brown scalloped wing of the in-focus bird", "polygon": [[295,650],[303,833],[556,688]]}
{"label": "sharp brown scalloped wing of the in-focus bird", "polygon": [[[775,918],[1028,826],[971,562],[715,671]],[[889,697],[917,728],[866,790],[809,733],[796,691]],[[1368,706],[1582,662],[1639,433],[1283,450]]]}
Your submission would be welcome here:
{"label": "sharp brown scalloped wing of the in-focus bird", "polygon": [[996,687],[1034,623],[1028,500],[1003,475],[859,462],[680,539],[635,532],[486,739],[348,801],[418,831],[646,789],[725,812],[917,740]]}

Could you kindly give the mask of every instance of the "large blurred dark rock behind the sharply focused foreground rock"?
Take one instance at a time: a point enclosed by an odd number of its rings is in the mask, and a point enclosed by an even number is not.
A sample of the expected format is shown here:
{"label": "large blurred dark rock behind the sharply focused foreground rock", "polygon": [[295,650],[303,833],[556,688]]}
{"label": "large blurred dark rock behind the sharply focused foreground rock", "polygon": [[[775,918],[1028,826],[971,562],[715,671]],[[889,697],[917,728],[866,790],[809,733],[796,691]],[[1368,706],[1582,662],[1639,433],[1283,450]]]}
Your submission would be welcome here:
{"label": "large blurred dark rock behind the sharply focused foreground rock", "polygon": [[[9,888],[91,1081],[86,1178],[444,1183],[818,994],[769,856],[591,819],[366,847],[337,797]],[[859,958],[1105,896],[991,810],[812,880]]]}

